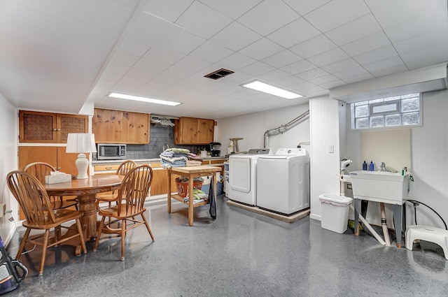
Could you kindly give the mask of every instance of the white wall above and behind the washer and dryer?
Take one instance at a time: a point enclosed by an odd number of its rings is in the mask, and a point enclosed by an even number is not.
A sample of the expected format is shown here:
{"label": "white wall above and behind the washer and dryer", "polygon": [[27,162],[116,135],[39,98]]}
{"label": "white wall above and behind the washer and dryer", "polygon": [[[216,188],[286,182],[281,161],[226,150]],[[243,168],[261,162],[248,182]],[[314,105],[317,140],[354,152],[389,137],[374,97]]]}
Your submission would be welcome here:
{"label": "white wall above and behind the washer and dryer", "polygon": [[[309,109],[308,104],[278,108],[260,113],[218,119],[215,127],[215,141],[221,143],[221,156],[227,154],[229,138],[244,138],[238,141],[239,151],[263,147],[265,131],[287,124]],[[283,134],[269,137],[269,148],[276,152],[281,147],[297,147],[300,142],[309,141],[309,119],[297,124]],[[303,145],[309,151],[309,145]]]}

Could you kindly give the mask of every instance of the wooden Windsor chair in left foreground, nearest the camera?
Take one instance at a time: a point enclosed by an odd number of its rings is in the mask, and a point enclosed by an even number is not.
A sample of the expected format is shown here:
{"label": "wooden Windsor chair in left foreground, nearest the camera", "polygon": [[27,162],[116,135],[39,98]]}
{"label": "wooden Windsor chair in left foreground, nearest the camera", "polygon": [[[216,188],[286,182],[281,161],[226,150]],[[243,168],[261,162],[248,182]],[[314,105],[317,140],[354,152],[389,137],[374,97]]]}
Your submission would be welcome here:
{"label": "wooden Windsor chair in left foreground, nearest the camera", "polygon": [[[25,244],[41,245],[42,255],[38,275],[42,275],[45,256],[49,247],[78,237],[83,253],[87,253],[83,229],[79,219],[83,215],[82,212],[68,209],[53,210],[52,203],[43,184],[25,171],[12,171],[8,173],[6,180],[11,193],[17,199],[26,218],[25,222],[22,222],[22,226],[27,230],[20,241],[15,259],[20,259]],[[62,226],[62,224],[73,220],[76,220],[76,226]],[[51,229],[66,229],[67,231],[63,236],[55,236],[55,233],[50,233]],[[45,232],[30,237],[29,233],[31,230]]]}

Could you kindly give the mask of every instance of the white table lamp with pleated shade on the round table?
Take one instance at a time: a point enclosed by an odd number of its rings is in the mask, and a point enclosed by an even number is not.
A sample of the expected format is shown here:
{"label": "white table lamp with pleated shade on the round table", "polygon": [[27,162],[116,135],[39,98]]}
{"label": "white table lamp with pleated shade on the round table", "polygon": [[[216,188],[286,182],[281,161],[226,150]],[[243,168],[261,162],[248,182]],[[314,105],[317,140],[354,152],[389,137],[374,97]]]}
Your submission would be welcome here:
{"label": "white table lamp with pleated shade on the round table", "polygon": [[87,176],[87,167],[89,160],[85,157],[86,152],[97,152],[95,146],[94,134],[91,133],[68,133],[67,147],[65,152],[77,152],[76,168],[78,169],[78,180],[85,180]]}

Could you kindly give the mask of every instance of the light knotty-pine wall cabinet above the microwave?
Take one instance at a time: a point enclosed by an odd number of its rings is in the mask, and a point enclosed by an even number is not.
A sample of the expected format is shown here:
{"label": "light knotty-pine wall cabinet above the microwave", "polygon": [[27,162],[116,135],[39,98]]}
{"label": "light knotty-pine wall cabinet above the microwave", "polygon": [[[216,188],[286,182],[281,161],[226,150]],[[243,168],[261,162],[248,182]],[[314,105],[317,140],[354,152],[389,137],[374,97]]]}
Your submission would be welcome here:
{"label": "light knotty-pine wall cabinet above the microwave", "polygon": [[97,143],[149,143],[149,115],[94,108],[92,133]]}

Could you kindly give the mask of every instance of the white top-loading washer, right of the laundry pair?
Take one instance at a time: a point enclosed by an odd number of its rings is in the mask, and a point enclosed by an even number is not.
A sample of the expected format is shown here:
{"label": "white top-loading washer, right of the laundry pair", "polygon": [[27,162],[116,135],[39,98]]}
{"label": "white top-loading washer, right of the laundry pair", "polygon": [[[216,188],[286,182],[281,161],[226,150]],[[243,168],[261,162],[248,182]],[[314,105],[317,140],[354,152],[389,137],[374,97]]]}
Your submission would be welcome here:
{"label": "white top-loading washer, right of the laundry pair", "polygon": [[285,215],[309,208],[309,156],[281,148],[257,162],[257,205]]}

